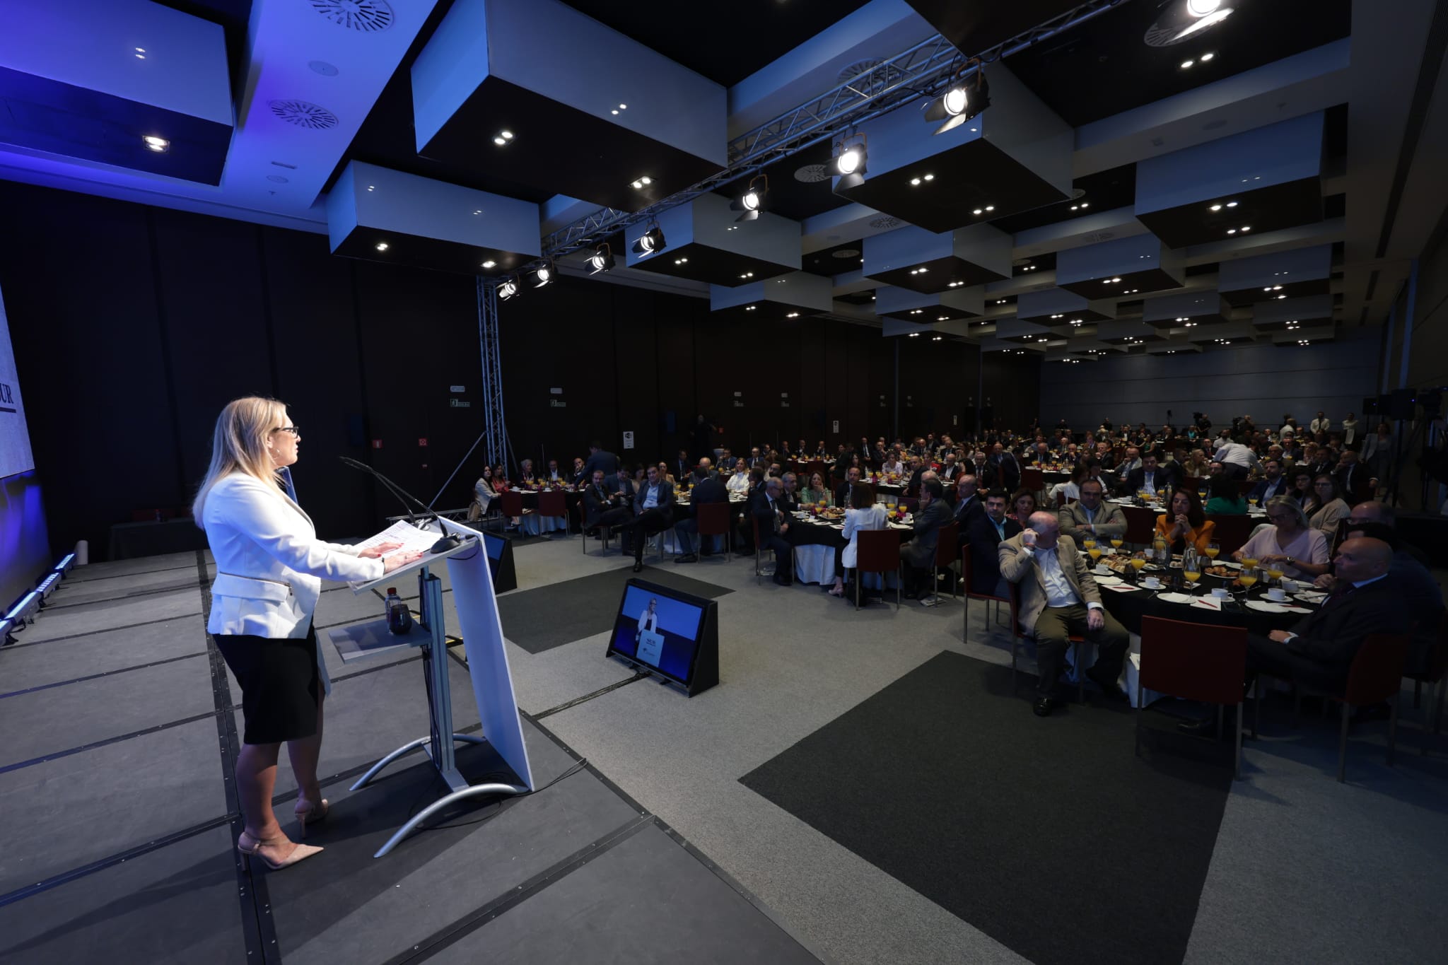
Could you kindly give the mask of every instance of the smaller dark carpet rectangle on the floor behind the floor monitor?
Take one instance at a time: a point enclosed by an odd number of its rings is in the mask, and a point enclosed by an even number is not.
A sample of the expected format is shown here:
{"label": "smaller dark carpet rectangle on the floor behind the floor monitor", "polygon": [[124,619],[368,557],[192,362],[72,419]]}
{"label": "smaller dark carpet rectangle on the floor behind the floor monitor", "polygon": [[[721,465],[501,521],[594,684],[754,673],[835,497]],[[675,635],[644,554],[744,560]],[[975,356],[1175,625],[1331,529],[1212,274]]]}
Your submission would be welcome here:
{"label": "smaller dark carpet rectangle on the floor behind the floor monitor", "polygon": [[624,586],[636,576],[649,583],[707,599],[733,592],[715,583],[679,576],[676,569],[646,566],[643,573],[636,574],[633,567],[618,567],[500,596],[502,632],[530,654],[602,634],[613,628]]}

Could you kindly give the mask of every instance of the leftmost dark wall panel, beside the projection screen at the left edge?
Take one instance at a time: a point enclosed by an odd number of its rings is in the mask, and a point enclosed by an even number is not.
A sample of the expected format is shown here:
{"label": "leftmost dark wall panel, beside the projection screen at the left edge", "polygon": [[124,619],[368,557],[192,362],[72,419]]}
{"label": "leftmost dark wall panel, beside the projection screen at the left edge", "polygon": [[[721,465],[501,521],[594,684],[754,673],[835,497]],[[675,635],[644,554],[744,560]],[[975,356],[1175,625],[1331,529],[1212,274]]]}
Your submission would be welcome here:
{"label": "leftmost dark wall panel, beside the projection screen at the left edge", "polygon": [[132,509],[190,501],[180,473],[146,208],[0,182],[0,289],[52,548],[103,553]]}

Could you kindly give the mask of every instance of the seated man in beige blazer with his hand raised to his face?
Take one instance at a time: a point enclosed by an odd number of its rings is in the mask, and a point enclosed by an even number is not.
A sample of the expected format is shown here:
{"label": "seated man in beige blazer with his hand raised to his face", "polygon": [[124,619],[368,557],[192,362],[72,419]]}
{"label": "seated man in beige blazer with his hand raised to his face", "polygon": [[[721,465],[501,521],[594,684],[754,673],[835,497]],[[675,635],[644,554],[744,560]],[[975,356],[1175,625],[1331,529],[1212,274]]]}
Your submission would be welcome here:
{"label": "seated man in beige blazer with his hand raised to his face", "polygon": [[1100,590],[1086,557],[1070,537],[1061,535],[1054,514],[1032,512],[1030,527],[996,550],[1001,576],[1021,587],[1021,629],[1035,637],[1035,716],[1058,706],[1053,692],[1070,635],[1096,644],[1096,666],[1086,676],[1111,700],[1125,702],[1116,680],[1127,658],[1127,629],[1100,605]]}

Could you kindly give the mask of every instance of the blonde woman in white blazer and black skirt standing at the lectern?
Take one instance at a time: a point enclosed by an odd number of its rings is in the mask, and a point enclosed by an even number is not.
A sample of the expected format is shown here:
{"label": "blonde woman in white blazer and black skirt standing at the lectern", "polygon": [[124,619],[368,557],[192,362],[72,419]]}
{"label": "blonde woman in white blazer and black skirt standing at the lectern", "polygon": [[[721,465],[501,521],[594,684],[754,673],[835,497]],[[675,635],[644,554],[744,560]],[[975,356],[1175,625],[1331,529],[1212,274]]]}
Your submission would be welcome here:
{"label": "blonde woman in white blazer and black skirt standing at the lectern", "polygon": [[[245,732],[236,784],[246,829],[236,849],[269,868],[285,868],[321,851],[292,842],[272,813],[282,742],[297,775],[295,816],[307,825],[327,816],[317,786],[321,699],[332,681],[321,663],[311,615],[321,580],[375,580],[420,558],[323,543],[294,499],[288,466],[301,430],[275,399],[236,399],[222,409],[211,438],[211,466],[191,506],[216,557],[206,629],[242,687]],[[384,557],[385,554],[391,554]]]}

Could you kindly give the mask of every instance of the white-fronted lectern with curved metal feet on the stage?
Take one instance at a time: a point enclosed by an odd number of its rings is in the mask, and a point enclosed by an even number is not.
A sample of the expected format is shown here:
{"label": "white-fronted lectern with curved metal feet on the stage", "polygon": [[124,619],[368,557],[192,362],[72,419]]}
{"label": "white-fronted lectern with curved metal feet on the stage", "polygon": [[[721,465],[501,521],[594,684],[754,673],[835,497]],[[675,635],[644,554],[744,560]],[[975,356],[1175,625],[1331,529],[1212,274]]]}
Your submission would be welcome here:
{"label": "white-fronted lectern with curved metal feet on the stage", "polygon": [[[397,846],[403,838],[432,817],[439,810],[465,797],[492,797],[505,794],[527,794],[533,790],[533,771],[529,767],[527,747],[523,744],[523,719],[518,715],[517,697],[513,692],[513,674],[508,668],[508,651],[502,639],[502,622],[498,618],[497,599],[492,592],[492,574],[488,570],[488,553],[482,534],[476,530],[440,519],[450,535],[468,537],[458,548],[447,553],[429,553],[416,563],[392,570],[381,580],[353,587],[355,593],[372,589],[378,583],[395,582],[417,570],[418,612],[417,625],[405,635],[388,632],[387,619],[378,619],[330,631],[332,642],[343,663],[391,652],[404,647],[417,647],[423,654],[423,676],[427,683],[429,734],[408,741],[368,770],[352,786],[358,790],[366,786],[384,767],[421,748],[432,758],[437,773],[447,784],[449,793],[437,799],[405,825],[397,829],[385,845],[374,855],[381,858]],[[472,693],[478,703],[478,718],[482,722],[482,736],[455,734],[452,723],[452,687],[447,677],[447,634],[443,619],[442,580],[430,566],[447,560],[447,574],[452,579],[453,606],[462,628],[463,652],[468,655],[468,676],[472,679]],[[458,773],[453,744],[491,744],[498,755],[523,781],[517,784],[469,784]]]}

